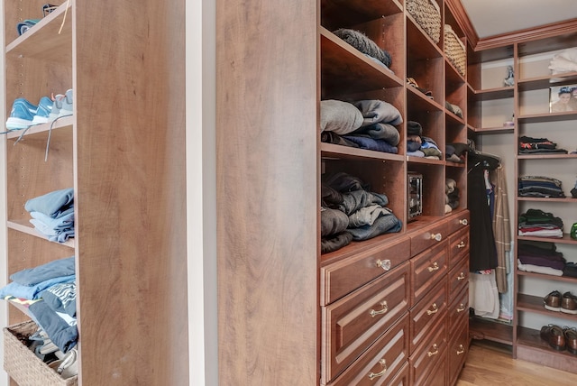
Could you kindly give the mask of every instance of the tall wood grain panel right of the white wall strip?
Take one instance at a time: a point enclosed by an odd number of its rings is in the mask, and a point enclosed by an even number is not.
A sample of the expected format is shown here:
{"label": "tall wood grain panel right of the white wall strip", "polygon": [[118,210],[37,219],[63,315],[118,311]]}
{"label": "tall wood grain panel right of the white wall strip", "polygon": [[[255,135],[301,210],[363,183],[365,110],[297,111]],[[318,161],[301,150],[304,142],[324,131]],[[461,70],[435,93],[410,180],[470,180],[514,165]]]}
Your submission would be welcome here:
{"label": "tall wood grain panel right of the white wall strip", "polygon": [[317,5],[216,2],[222,384],[318,381]]}

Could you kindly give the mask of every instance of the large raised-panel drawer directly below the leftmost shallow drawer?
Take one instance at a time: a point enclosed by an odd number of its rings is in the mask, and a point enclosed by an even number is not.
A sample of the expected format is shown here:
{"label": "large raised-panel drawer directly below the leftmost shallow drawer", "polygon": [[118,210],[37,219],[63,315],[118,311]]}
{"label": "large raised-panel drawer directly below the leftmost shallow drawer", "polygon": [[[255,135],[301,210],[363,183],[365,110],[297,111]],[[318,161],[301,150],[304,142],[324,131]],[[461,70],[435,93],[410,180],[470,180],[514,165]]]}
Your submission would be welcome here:
{"label": "large raised-panel drawer directly below the leftmost shallow drawer", "polygon": [[332,380],[408,311],[409,264],[321,308],[321,381]]}

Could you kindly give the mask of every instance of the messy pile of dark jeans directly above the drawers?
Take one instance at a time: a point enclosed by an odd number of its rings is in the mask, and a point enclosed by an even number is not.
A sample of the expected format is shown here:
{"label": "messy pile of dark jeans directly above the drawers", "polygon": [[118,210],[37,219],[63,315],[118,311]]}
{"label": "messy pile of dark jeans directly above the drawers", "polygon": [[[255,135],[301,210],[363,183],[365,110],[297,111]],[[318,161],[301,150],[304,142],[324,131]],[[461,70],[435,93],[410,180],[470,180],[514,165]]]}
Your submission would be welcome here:
{"label": "messy pile of dark jeans directly above the drawers", "polygon": [[395,233],[401,221],[386,207],[386,195],[371,192],[361,179],[339,172],[323,177],[321,186],[321,253],[351,241]]}

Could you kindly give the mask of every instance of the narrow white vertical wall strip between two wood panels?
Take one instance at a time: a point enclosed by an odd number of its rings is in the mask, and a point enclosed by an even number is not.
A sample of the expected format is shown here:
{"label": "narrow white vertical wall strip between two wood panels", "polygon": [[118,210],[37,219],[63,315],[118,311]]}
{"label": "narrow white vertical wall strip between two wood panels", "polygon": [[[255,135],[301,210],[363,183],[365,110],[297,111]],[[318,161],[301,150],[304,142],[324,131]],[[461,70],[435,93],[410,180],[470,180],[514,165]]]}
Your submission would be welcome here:
{"label": "narrow white vertical wall strip between two wood panels", "polygon": [[187,2],[187,228],[190,384],[218,384],[215,2]]}

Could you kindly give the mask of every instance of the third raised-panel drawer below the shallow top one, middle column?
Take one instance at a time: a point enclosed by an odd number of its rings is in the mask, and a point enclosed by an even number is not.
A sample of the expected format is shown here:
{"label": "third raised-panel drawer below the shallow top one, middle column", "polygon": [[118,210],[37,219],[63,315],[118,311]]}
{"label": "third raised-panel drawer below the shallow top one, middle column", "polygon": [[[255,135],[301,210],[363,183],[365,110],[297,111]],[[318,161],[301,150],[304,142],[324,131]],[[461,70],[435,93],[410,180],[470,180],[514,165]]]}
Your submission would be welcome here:
{"label": "third raised-panel drawer below the shallow top one, middle column", "polygon": [[444,315],[439,317],[435,326],[426,335],[423,345],[420,345],[415,354],[411,354],[408,358],[411,385],[427,384],[429,374],[435,373],[439,368],[442,369],[441,375],[444,377],[446,365],[442,363],[444,363],[447,351],[444,317]]}

